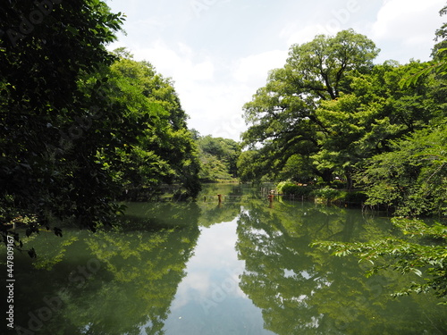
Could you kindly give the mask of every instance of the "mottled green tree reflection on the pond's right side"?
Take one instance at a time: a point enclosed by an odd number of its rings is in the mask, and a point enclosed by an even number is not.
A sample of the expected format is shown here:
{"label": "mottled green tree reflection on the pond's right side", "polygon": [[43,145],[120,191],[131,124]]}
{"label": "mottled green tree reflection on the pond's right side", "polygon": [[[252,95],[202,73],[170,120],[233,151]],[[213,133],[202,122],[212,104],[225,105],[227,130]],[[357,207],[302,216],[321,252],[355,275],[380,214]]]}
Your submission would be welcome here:
{"label": "mottled green tree reflection on the pond's right side", "polygon": [[[237,250],[246,262],[240,288],[262,308],[266,329],[277,334],[445,331],[443,311],[430,308],[428,297],[387,294],[406,279],[384,272],[366,280],[354,259],[333,259],[308,247],[313,240],[390,236],[387,220],[371,224],[358,211],[305,203],[275,203],[269,209],[253,202],[238,223]],[[410,307],[415,304],[427,315],[417,317],[419,323]]]}

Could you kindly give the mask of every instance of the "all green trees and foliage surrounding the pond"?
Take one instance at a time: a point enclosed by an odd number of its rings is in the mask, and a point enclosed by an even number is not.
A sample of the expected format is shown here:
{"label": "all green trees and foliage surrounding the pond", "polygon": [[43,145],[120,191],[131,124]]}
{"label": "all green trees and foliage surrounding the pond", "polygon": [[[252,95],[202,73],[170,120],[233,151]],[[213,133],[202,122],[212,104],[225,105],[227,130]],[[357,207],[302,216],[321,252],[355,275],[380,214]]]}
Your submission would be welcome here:
{"label": "all green trees and foliage surrounding the pond", "polygon": [[[170,185],[184,200],[203,182],[267,180],[360,190],[366,205],[406,217],[396,224],[409,235],[446,238],[447,24],[429,62],[375,63],[380,50],[353,29],[291,46],[243,106],[248,129],[238,143],[190,129],[172,79],[130,50],[107,50],[122,13],[98,0],[35,6],[13,1],[0,13],[4,243],[13,236],[21,247],[15,225],[26,236],[42,228],[62,236],[58,222],[95,231],[125,211],[133,191],[151,197]],[[411,220],[424,217],[440,222]],[[433,277],[409,290],[447,294],[443,245],[318,246],[367,260],[394,255],[388,266]]]}

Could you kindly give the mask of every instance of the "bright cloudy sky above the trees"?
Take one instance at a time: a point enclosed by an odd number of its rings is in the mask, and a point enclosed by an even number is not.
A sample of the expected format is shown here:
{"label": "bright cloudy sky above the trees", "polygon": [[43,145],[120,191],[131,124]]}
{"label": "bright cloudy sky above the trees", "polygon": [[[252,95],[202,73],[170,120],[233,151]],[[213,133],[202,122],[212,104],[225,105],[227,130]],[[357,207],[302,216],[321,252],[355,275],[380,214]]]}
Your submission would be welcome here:
{"label": "bright cloudy sky above the trees", "polygon": [[375,63],[428,61],[445,0],[106,0],[124,13],[125,46],[171,78],[200,135],[240,140],[243,105],[293,44],[354,29],[381,49]]}

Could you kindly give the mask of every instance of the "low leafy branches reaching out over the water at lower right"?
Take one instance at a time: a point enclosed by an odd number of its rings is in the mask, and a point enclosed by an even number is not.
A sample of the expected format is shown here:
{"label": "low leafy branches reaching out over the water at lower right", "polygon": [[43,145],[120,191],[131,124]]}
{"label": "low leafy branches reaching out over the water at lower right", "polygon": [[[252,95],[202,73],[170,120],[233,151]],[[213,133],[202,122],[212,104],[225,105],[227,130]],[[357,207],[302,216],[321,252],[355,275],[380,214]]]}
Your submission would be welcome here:
{"label": "low leafy branches reaching out over the water at lower right", "polygon": [[[372,264],[377,259],[384,258],[381,262],[381,264],[384,263],[383,265],[375,265],[367,274],[371,275],[387,268],[392,268],[401,274],[414,272],[420,277],[424,276],[426,282],[412,283],[409,288],[401,290],[396,295],[429,292],[433,289],[436,296],[443,298],[443,304],[447,304],[447,250],[445,248],[447,228],[441,224],[428,227],[424,222],[404,219],[393,219],[393,223],[405,234],[416,237],[418,243],[402,239],[382,239],[367,243],[318,242],[315,245],[335,250],[333,255],[356,254],[361,260]],[[432,240],[428,243],[423,239]],[[433,239],[441,239],[444,243],[439,244]]]}

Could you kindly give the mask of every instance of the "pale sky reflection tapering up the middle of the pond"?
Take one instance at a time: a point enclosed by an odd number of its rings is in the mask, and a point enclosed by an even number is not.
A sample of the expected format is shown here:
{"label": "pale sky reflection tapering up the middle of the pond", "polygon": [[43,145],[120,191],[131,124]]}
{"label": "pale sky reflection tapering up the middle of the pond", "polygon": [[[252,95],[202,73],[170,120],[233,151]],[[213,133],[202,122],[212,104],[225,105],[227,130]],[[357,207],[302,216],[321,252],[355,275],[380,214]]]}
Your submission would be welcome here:
{"label": "pale sky reflection tapering up the middle of the pond", "polygon": [[245,262],[235,250],[237,219],[202,228],[164,323],[174,334],[273,334],[262,329],[261,310],[239,287]]}

